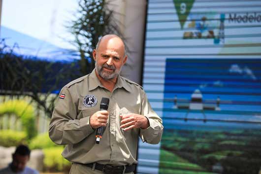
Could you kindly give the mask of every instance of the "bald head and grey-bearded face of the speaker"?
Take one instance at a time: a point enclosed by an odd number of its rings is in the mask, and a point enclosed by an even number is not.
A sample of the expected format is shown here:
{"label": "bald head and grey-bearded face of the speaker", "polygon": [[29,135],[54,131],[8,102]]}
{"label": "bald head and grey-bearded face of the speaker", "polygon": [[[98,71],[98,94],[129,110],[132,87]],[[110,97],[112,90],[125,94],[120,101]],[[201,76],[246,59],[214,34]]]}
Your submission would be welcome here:
{"label": "bald head and grey-bearded face of the speaker", "polygon": [[102,38],[98,50],[93,52],[96,70],[103,79],[114,79],[127,61],[124,45],[118,37]]}

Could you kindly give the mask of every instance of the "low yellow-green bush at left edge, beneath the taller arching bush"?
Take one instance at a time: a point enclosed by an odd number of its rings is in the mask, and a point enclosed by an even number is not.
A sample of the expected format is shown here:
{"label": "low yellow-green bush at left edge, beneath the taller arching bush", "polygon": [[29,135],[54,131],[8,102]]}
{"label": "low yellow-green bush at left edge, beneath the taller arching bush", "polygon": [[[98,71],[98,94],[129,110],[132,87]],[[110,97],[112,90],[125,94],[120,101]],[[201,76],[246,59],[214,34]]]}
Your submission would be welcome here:
{"label": "low yellow-green bush at left edge, beneath the taller arching bush", "polygon": [[13,130],[1,130],[0,131],[0,145],[5,147],[17,146],[19,144],[26,143],[26,133],[13,131]]}

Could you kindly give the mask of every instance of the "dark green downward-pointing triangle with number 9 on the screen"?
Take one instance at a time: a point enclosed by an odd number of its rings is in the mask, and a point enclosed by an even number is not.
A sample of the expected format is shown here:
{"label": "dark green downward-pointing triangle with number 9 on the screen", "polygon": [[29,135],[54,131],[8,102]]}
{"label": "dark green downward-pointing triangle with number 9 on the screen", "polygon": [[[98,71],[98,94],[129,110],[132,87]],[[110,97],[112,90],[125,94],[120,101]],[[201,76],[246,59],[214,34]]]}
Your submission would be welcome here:
{"label": "dark green downward-pointing triangle with number 9 on the screen", "polygon": [[178,14],[180,26],[183,29],[183,26],[187,20],[188,15],[190,14],[190,10],[195,0],[173,0],[173,1]]}

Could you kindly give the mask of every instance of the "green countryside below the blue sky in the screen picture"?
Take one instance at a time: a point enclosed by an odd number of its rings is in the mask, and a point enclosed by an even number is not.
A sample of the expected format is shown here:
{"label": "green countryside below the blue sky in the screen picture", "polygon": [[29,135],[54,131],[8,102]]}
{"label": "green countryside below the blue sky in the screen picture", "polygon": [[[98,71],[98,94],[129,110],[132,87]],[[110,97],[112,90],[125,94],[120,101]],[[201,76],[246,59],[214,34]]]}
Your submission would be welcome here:
{"label": "green countryside below the blue sky in the screen picture", "polygon": [[[160,174],[212,172],[220,164],[223,174],[257,174],[261,164],[260,130],[171,130],[161,141]],[[181,159],[183,159],[182,162]],[[202,172],[190,166],[197,165]]]}

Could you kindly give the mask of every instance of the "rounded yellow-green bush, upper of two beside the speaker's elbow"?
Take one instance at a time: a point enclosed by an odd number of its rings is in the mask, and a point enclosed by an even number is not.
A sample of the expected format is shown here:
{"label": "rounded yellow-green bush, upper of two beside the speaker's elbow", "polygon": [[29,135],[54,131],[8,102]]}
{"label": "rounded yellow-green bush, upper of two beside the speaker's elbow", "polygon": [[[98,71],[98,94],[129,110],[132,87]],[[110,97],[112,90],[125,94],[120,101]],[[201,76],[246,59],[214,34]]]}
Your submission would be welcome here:
{"label": "rounded yellow-green bush, upper of two beside the speaker's elbow", "polygon": [[48,133],[40,134],[34,137],[29,145],[31,149],[44,149],[56,146],[57,145],[49,138]]}

